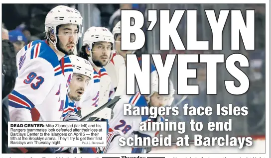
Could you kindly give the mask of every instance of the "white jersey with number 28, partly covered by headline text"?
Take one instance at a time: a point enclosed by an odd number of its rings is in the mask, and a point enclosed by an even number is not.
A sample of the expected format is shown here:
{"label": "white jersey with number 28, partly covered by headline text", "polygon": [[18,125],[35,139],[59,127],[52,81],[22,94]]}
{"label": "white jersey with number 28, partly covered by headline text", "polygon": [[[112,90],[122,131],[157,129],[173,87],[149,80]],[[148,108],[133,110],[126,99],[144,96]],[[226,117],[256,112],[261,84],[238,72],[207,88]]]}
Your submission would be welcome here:
{"label": "white jersey with number 28, partly covered by headline text", "polygon": [[[124,115],[124,104],[129,103],[133,106],[145,107],[148,106],[147,101],[140,92],[136,92],[135,95],[124,95],[115,105],[113,112],[114,117],[109,120],[109,126],[112,129],[120,130],[126,135],[132,135],[133,133],[140,134],[143,137],[154,137],[158,134],[156,131],[139,131],[140,122],[147,121],[150,119],[147,115],[141,116],[125,116]],[[152,119],[153,121],[154,119]],[[155,121],[163,122],[164,118],[158,116]],[[138,133],[139,132],[139,133]]]}

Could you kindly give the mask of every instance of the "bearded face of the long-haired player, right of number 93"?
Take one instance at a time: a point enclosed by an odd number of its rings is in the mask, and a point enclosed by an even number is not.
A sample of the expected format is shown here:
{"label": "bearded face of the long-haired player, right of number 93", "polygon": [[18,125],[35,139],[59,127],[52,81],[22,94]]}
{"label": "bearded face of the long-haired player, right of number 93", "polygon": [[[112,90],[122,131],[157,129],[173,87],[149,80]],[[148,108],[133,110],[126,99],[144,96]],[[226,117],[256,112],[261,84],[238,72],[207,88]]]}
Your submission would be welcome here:
{"label": "bearded face of the long-haired player, right of number 93", "polygon": [[110,42],[96,42],[92,48],[92,61],[97,67],[105,66],[110,58],[112,44]]}

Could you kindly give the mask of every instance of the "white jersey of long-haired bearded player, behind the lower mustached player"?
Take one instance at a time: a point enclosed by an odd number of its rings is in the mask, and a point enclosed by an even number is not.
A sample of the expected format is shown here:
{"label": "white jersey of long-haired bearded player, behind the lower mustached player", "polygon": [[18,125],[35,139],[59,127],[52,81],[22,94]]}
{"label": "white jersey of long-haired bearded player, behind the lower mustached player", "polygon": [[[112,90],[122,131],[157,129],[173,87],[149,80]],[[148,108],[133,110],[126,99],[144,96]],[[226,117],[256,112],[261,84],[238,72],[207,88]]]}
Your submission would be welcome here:
{"label": "white jersey of long-haired bearded player, behind the lower mustached player", "polygon": [[[99,72],[94,70],[93,83],[90,83],[85,89],[84,94],[79,102],[76,102],[76,110],[80,110],[84,106],[94,106],[97,107],[99,103],[99,92],[100,92],[100,78],[104,75],[108,75],[105,68],[101,68]],[[114,95],[114,87],[111,84],[111,89],[109,93],[109,98]]]}

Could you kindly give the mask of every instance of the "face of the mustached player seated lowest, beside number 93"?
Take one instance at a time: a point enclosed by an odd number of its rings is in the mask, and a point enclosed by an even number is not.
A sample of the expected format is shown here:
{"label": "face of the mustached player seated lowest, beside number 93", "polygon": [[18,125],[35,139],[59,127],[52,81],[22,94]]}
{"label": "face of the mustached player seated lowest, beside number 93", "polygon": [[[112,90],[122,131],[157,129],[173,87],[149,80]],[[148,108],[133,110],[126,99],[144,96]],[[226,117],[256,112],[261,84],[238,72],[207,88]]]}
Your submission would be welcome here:
{"label": "face of the mustached player seated lowest, beside number 93", "polygon": [[71,100],[79,101],[85,92],[86,86],[89,84],[90,78],[81,74],[74,73],[69,84]]}

